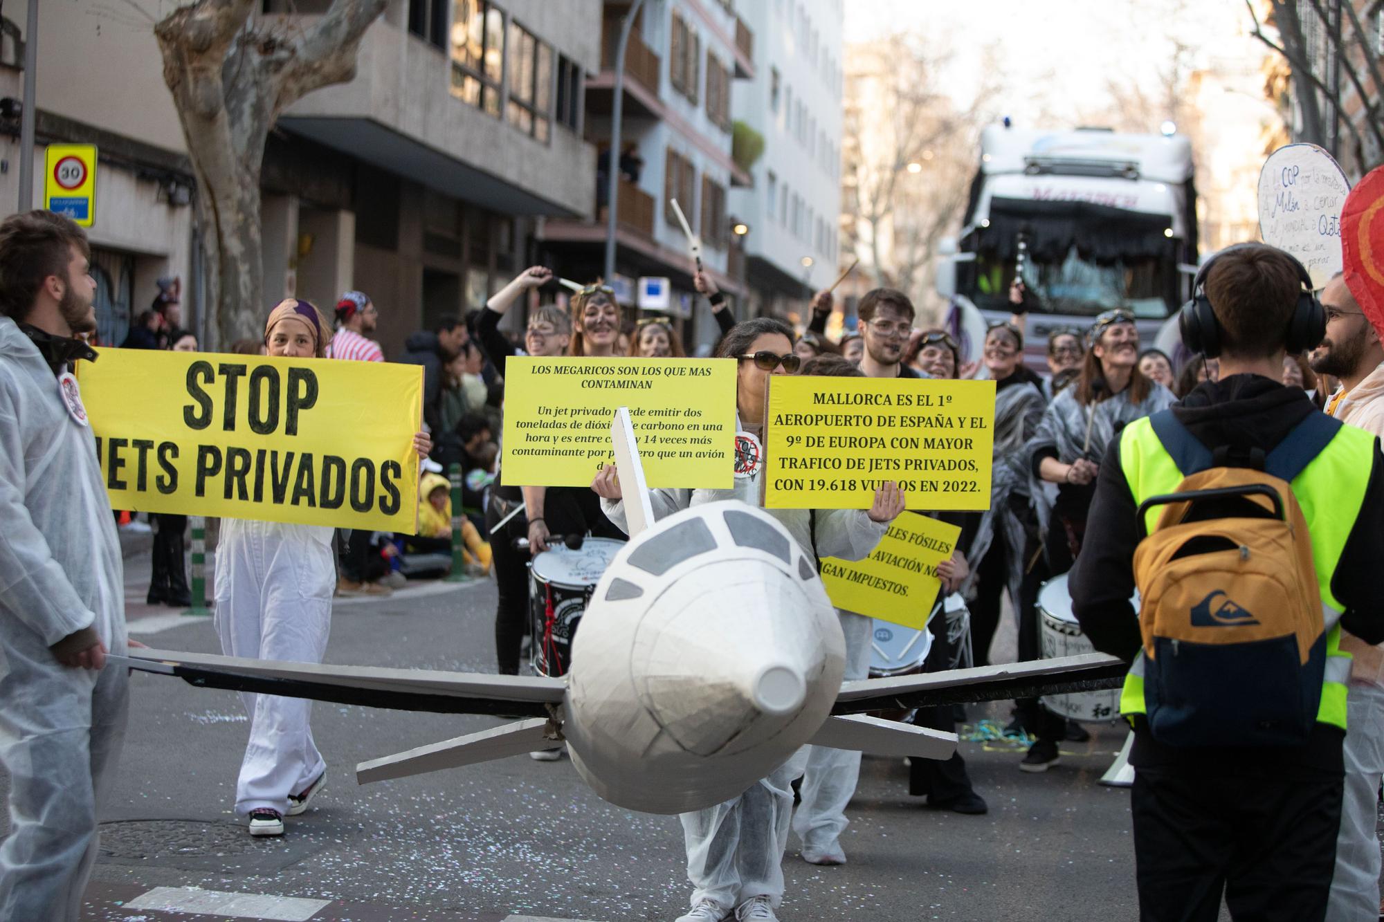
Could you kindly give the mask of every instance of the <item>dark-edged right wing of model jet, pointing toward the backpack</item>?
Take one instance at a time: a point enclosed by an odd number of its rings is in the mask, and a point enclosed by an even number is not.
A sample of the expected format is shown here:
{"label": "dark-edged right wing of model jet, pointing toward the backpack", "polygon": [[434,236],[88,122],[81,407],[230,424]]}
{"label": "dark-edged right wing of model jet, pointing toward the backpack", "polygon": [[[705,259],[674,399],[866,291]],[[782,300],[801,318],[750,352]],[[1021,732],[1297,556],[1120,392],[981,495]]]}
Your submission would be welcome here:
{"label": "dark-edged right wing of model jet, pointing toward the backpack", "polygon": [[894,678],[862,678],[841,683],[832,713],[865,714],[876,710],[909,710],[933,705],[1120,688],[1127,671],[1129,665],[1116,656],[1084,653]]}

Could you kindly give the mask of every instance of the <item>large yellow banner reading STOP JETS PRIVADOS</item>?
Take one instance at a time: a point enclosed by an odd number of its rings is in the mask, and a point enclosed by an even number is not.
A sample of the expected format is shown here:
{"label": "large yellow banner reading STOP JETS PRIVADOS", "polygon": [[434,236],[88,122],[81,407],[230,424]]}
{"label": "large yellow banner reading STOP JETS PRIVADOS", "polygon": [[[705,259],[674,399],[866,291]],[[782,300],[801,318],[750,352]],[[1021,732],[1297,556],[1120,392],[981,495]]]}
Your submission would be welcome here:
{"label": "large yellow banner reading STOP JETS PRIVADOS", "polygon": [[414,530],[421,365],[101,349],[76,374],[115,509]]}

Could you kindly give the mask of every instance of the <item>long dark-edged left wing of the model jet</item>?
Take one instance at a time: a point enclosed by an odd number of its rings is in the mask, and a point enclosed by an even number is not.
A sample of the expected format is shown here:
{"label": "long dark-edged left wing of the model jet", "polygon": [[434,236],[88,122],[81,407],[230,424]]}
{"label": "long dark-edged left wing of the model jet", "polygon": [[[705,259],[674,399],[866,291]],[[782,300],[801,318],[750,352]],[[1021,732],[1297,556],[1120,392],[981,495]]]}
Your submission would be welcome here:
{"label": "long dark-edged left wing of the model jet", "polygon": [[111,666],[176,676],[199,688],[515,720],[549,717],[549,706],[559,705],[566,691],[563,680],[537,676],[328,666],[143,648],[107,659]]}

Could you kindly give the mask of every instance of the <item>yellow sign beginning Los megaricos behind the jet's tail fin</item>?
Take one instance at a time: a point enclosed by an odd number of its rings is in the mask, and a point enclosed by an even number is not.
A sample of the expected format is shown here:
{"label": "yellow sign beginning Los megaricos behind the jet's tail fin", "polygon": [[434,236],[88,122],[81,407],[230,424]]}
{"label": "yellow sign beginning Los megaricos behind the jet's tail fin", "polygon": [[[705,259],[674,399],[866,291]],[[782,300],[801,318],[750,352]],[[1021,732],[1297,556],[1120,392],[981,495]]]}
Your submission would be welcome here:
{"label": "yellow sign beginning Los megaricos behind the jet's tail fin", "polygon": [[511,359],[504,482],[590,486],[614,460],[620,407],[630,407],[650,487],[734,485],[734,359]]}

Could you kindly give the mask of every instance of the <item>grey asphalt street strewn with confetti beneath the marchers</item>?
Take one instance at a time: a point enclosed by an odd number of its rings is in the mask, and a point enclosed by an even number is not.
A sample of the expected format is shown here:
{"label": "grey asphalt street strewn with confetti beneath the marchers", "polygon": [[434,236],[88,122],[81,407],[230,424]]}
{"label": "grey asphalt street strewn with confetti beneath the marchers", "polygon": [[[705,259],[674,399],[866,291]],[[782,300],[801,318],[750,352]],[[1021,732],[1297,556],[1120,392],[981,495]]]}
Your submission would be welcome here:
{"label": "grey asphalt street strewn with confetti beneath the marchers", "polygon": [[[130,563],[138,591],[140,561]],[[494,598],[483,581],[338,599],[327,659],[493,671]],[[131,626],[152,647],[219,652],[209,619],[131,605]],[[972,706],[970,717],[1003,721],[1008,706]],[[314,919],[671,921],[685,911],[677,818],[606,804],[566,759],[353,779],[357,761],[497,723],[318,703],[328,788],[282,839],[252,840],[231,814],[248,732],[238,698],[138,674],[87,918],[210,918],[127,905],[151,887],[188,886],[331,901]],[[902,761],[866,757],[841,839],[850,862],[808,865],[790,842],[781,918],[1136,918],[1128,792],[1096,784],[1124,732],[1093,730],[1038,775],[1017,770],[1021,750],[1010,745],[963,743],[990,802],[983,817],[925,807],[907,796]],[[217,916],[307,918],[256,912]]]}

